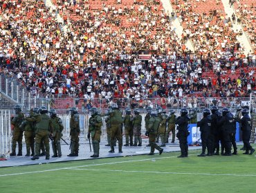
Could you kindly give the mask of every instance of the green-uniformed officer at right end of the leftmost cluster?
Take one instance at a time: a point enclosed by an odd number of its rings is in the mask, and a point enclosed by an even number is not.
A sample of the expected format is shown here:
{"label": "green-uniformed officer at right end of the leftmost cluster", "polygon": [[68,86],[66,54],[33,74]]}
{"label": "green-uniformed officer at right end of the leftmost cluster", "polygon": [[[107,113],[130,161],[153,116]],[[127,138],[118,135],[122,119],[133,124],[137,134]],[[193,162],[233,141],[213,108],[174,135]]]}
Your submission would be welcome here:
{"label": "green-uniformed officer at right end of the leftmost cluster", "polygon": [[55,109],[51,109],[50,114],[51,121],[53,123],[53,132],[51,133],[53,148],[52,157],[62,157],[62,147],[60,145],[60,139],[62,138],[62,130],[64,129],[62,119],[60,119],[60,117],[57,116]]}

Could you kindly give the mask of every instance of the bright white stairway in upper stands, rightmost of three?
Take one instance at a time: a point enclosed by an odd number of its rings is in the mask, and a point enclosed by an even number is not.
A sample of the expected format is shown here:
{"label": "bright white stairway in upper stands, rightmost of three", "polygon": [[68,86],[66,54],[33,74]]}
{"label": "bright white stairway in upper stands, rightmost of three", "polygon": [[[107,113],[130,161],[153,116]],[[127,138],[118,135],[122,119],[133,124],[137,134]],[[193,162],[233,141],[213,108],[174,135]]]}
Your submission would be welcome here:
{"label": "bright white stairway in upper stands, rightmost of three", "polygon": [[[235,9],[233,8],[233,6],[230,6],[229,0],[221,0],[224,6],[224,10],[226,12],[226,14],[228,15],[228,17],[232,18],[232,14],[235,14]],[[235,21],[237,21],[237,15],[235,14]],[[232,22],[232,19],[231,19]],[[237,23],[237,22],[232,22],[232,30],[234,30],[235,32],[239,32],[240,30],[243,32],[243,34],[241,36],[237,36],[237,39],[239,41],[239,43],[241,44],[241,46],[244,48],[244,54],[246,54],[246,56],[249,53],[252,53],[253,47],[250,44],[250,41],[246,35],[246,33],[244,32],[241,24]]]}

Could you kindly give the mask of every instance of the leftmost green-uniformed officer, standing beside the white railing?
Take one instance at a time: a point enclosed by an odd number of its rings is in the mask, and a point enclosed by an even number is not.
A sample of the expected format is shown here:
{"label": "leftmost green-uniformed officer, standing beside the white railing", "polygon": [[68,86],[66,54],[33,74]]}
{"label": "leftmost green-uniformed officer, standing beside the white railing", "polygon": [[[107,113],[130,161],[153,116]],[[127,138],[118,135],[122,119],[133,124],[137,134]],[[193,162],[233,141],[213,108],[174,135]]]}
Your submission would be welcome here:
{"label": "leftmost green-uniformed officer, standing beside the white railing", "polygon": [[12,116],[10,123],[14,126],[12,133],[12,152],[10,156],[16,156],[16,145],[18,143],[19,152],[17,156],[22,156],[22,138],[23,130],[19,128],[22,121],[24,121],[24,114],[21,112],[21,106],[15,105],[15,116]]}

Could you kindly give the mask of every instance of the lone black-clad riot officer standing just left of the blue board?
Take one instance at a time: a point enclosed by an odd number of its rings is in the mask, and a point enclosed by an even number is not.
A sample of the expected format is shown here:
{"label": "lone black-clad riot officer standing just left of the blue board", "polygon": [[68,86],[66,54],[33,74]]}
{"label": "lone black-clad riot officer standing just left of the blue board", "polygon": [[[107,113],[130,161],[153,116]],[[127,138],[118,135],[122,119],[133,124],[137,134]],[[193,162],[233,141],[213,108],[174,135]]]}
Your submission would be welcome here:
{"label": "lone black-clad riot officer standing just left of the blue board", "polygon": [[178,130],[176,136],[179,139],[181,148],[181,155],[178,156],[179,158],[188,157],[188,136],[190,135],[190,132],[188,131],[189,121],[188,110],[185,108],[181,109],[181,116],[178,116],[175,121]]}

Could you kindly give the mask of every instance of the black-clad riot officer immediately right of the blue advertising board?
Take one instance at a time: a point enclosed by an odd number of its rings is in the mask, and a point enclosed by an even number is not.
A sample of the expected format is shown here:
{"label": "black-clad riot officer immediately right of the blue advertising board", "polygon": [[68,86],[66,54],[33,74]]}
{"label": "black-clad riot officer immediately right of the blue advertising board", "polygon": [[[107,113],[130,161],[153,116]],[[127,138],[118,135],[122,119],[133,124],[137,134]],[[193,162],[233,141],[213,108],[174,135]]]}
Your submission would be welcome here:
{"label": "black-clad riot officer immediately right of the blue advertising board", "polygon": [[210,130],[212,125],[212,117],[210,116],[210,110],[203,110],[203,119],[197,122],[197,127],[200,128],[201,140],[202,140],[202,152],[198,156],[206,156],[205,150],[207,148],[208,156],[212,156],[212,146],[210,141]]}

